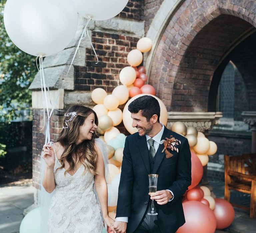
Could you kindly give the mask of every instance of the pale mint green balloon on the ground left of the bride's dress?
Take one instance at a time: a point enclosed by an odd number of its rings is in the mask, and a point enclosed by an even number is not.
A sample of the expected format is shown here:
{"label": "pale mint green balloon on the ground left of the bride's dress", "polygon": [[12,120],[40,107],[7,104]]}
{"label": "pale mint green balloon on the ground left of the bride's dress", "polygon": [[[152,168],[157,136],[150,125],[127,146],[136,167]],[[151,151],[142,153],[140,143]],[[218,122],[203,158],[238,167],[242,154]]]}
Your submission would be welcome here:
{"label": "pale mint green balloon on the ground left of the bride's dress", "polygon": [[20,233],[40,233],[40,208],[29,211],[22,219]]}

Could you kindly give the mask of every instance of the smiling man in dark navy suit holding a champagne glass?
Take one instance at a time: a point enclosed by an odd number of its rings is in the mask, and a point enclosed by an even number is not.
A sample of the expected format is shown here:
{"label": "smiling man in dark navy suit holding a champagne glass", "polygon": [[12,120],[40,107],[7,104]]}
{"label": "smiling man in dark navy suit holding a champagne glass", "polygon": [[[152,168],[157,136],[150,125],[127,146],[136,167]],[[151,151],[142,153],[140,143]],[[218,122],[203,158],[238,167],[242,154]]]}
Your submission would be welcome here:
{"label": "smiling man in dark navy suit holding a champagne glass", "polygon": [[[191,154],[188,140],[167,129],[160,121],[160,106],[152,96],[142,96],[128,106],[132,126],[138,132],[125,141],[118,190],[117,233],[174,233],[185,223],[182,195],[191,184]],[[171,136],[172,135],[172,136]],[[161,140],[181,141],[179,152],[166,157]],[[149,193],[148,174],[158,174],[157,192]],[[158,215],[148,215],[154,200]]]}

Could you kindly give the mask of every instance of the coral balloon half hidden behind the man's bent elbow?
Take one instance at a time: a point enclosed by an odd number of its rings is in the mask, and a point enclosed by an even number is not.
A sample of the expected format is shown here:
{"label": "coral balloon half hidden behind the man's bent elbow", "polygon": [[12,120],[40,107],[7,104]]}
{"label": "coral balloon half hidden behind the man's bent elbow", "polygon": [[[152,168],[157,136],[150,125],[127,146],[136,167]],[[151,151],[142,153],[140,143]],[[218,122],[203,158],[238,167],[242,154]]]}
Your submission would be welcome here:
{"label": "coral balloon half hidden behind the man's bent elbow", "polygon": [[188,189],[194,188],[203,177],[203,165],[197,155],[191,152],[191,185]]}

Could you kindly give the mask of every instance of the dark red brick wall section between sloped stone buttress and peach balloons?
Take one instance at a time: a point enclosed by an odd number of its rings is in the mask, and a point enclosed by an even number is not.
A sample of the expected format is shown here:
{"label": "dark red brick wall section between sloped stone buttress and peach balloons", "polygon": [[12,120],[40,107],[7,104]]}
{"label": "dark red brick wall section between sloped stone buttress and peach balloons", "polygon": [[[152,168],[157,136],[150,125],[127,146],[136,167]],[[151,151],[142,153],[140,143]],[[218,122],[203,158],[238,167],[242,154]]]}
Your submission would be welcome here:
{"label": "dark red brick wall section between sloped stone buttress and peach balloons", "polygon": [[92,42],[99,58],[92,49],[86,49],[86,66],[75,67],[75,90],[92,91],[103,88],[107,92],[120,85],[119,73],[122,68],[129,66],[127,54],[136,48],[139,38],[92,32]]}

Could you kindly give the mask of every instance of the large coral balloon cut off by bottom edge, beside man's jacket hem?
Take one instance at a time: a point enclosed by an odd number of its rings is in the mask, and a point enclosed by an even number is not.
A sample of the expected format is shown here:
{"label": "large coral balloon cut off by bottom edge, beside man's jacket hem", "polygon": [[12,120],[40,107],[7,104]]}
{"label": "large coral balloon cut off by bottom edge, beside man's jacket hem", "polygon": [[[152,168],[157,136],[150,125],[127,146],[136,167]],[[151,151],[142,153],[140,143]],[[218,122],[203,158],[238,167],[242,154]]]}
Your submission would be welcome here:
{"label": "large coral balloon cut off by bottom edge, beside man's jacket hem", "polygon": [[186,222],[176,233],[214,233],[216,219],[213,211],[200,201],[182,203]]}

